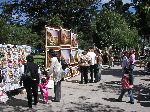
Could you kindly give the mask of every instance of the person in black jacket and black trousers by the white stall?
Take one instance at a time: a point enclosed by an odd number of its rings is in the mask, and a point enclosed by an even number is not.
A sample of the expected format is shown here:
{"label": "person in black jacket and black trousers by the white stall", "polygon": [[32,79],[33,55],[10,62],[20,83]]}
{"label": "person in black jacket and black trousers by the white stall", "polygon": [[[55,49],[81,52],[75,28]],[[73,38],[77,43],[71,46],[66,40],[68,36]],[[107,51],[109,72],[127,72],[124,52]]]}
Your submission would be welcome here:
{"label": "person in black jacket and black trousers by the white stall", "polygon": [[34,63],[34,58],[32,55],[28,55],[26,57],[27,63],[24,65],[24,74],[27,74],[27,71],[30,72],[30,76],[21,78],[21,85],[23,82],[23,86],[27,92],[28,99],[28,107],[32,108],[32,95],[34,97],[34,105],[38,103],[38,84],[39,84],[39,73],[38,73],[38,65]]}

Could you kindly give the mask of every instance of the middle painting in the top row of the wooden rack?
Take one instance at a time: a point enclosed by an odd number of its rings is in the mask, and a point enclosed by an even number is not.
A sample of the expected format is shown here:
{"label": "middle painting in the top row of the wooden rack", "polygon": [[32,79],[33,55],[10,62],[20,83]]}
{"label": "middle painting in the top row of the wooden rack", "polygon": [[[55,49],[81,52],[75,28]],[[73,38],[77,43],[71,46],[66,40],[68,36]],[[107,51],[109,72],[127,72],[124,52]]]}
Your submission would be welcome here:
{"label": "middle painting in the top row of the wooden rack", "polygon": [[61,29],[61,45],[71,45],[71,30]]}

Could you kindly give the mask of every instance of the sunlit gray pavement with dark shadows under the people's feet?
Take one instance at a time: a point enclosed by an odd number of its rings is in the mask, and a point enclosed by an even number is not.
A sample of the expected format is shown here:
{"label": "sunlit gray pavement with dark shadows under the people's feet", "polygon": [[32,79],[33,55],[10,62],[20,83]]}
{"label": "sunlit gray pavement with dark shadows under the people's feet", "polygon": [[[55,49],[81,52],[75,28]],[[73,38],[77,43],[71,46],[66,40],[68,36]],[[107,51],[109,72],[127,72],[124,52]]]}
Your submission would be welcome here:
{"label": "sunlit gray pavement with dark shadows under the people's feet", "polygon": [[[34,108],[35,112],[149,112],[150,76],[141,75],[143,68],[136,67],[134,97],[135,104],[116,102],[120,94],[121,67],[115,65],[108,69],[104,66],[102,80],[98,83],[79,84],[80,75],[62,82],[62,99],[52,102],[53,89],[49,89],[49,104],[43,104],[41,96]],[[89,77],[90,79],[90,77]],[[40,93],[39,93],[40,94]],[[13,96],[7,104],[0,104],[1,112],[28,112],[26,94]]]}

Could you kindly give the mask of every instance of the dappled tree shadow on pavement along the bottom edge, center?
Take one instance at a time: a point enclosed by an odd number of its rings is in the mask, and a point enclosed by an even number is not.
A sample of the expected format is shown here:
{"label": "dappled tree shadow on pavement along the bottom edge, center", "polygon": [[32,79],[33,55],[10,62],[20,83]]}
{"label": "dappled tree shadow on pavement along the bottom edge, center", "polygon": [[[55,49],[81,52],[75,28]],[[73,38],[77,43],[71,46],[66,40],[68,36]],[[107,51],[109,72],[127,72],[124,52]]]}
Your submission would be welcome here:
{"label": "dappled tree shadow on pavement along the bottom edge, center", "polygon": [[67,112],[124,112],[125,110],[118,107],[110,107],[109,105],[103,105],[101,103],[75,103],[70,108],[66,108]]}

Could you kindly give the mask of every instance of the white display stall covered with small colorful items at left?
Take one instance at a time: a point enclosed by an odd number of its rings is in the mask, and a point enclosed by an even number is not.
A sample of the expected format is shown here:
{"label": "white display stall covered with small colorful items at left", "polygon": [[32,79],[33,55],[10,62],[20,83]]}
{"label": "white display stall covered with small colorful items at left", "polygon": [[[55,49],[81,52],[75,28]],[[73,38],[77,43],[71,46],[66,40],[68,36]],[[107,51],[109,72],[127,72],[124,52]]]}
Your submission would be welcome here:
{"label": "white display stall covered with small colorful items at left", "polygon": [[4,91],[21,88],[19,81],[24,72],[23,64],[30,53],[31,47],[27,45],[0,44],[0,83]]}

